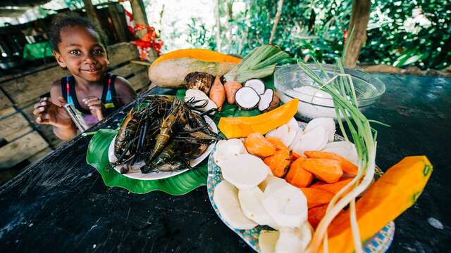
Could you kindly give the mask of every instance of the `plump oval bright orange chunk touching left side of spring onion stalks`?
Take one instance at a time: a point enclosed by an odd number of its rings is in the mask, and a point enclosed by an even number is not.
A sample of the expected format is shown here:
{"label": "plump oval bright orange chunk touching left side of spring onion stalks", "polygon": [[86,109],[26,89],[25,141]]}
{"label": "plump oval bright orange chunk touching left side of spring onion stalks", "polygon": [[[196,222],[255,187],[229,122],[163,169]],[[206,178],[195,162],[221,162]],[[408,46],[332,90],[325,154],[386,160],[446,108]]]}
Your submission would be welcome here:
{"label": "plump oval bright orange chunk touching left side of spring onion stalks", "polygon": [[328,183],[335,183],[343,174],[340,162],[323,158],[308,158],[302,167],[310,171],[318,179]]}

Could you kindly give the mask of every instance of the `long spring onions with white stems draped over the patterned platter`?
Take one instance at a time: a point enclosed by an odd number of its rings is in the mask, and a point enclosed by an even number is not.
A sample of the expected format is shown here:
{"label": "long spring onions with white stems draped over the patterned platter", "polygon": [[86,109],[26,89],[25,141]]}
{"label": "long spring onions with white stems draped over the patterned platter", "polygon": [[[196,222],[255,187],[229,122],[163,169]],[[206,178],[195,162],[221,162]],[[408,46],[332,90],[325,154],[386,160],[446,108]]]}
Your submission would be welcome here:
{"label": "long spring onions with white stems draped over the patterned platter", "polygon": [[[321,222],[316,228],[309,247],[307,247],[307,252],[318,252],[321,247],[321,242],[323,242],[323,252],[328,252],[328,226],[335,216],[337,216],[337,214],[347,205],[350,205],[350,223],[352,226],[355,252],[363,252],[362,242],[359,236],[359,227],[357,226],[355,198],[366,190],[373,179],[376,166],[377,132],[371,128],[370,120],[366,119],[362,112],[359,111],[357,96],[354,85],[352,84],[351,76],[350,74],[345,74],[341,60],[337,60],[336,70],[338,71],[334,73],[333,77],[330,77],[323,67],[316,62],[316,67],[319,72],[321,72],[323,77],[326,77],[328,81],[324,81],[320,76],[321,74],[311,70],[306,64],[298,63],[298,65],[305,74],[321,86],[320,89],[322,91],[326,91],[332,96],[337,118],[340,119],[343,117],[345,119],[352,139],[348,138],[343,123],[338,120],[342,134],[346,141],[352,141],[354,143],[359,157],[359,171],[357,176],[355,176],[347,186],[335,194],[330,201],[326,215],[321,219]],[[351,189],[350,192],[345,194],[348,189]]]}

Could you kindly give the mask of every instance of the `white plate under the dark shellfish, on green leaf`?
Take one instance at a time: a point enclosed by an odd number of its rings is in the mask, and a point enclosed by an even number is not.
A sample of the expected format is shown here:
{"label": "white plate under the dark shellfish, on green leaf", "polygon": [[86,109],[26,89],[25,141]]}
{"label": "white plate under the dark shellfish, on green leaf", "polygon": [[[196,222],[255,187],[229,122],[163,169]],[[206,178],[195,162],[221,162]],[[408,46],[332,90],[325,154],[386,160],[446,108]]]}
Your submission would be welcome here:
{"label": "white plate under the dark shellfish, on green leaf", "polygon": [[[206,124],[209,124],[210,129],[214,131],[216,134],[218,134],[218,128],[216,127],[216,124],[214,124],[213,119],[210,119],[210,117],[204,116]],[[108,148],[108,160],[110,164],[113,164],[113,162],[116,162],[118,159],[116,155],[114,155],[114,142],[116,141],[116,136],[114,136],[113,140],[110,143],[110,146]],[[211,150],[214,149],[215,143],[211,143],[208,148],[206,148],[205,152],[202,153],[199,157],[196,159],[190,160],[191,167],[196,166],[200,162],[202,162],[206,157],[209,156],[211,153]],[[133,166],[130,168],[130,171],[128,173],[123,174],[124,176],[127,176],[130,179],[139,179],[139,180],[157,180],[157,179],[166,179],[171,176],[175,176],[178,174],[182,174],[183,172],[187,171],[188,169],[183,169],[180,171],[161,171],[161,172],[149,172],[148,174],[143,174],[140,170],[140,167],[144,165],[144,161],[136,162],[133,164]],[[121,173],[121,167],[122,165],[113,166],[113,168],[118,171],[118,173]]]}

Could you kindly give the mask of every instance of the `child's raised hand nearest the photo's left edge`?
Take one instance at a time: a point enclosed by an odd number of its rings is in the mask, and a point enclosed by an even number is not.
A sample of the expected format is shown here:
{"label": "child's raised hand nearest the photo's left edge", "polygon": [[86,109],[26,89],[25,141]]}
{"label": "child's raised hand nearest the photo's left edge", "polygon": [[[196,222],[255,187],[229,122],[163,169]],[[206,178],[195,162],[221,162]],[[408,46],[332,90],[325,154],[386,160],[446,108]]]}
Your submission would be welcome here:
{"label": "child's raised hand nearest the photo's left edge", "polygon": [[[59,97],[58,100],[61,105],[67,103],[63,97]],[[73,127],[72,119],[70,119],[66,109],[63,106],[51,103],[49,98],[41,98],[39,103],[36,103],[34,107],[33,114],[37,116],[36,122],[38,124],[51,124],[58,128]]]}

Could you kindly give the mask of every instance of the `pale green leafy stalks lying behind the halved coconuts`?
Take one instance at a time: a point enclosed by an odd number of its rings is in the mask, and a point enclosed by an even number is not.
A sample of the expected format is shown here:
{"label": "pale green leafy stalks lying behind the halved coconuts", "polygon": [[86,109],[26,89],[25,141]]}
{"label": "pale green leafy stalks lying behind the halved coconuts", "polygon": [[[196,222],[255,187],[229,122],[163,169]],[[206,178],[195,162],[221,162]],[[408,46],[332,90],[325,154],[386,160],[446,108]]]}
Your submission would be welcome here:
{"label": "pale green leafy stalks lying behind the halved coconuts", "polygon": [[273,74],[276,64],[289,58],[288,53],[271,45],[254,48],[239,64],[224,74],[226,81],[245,82],[252,78],[263,78]]}

